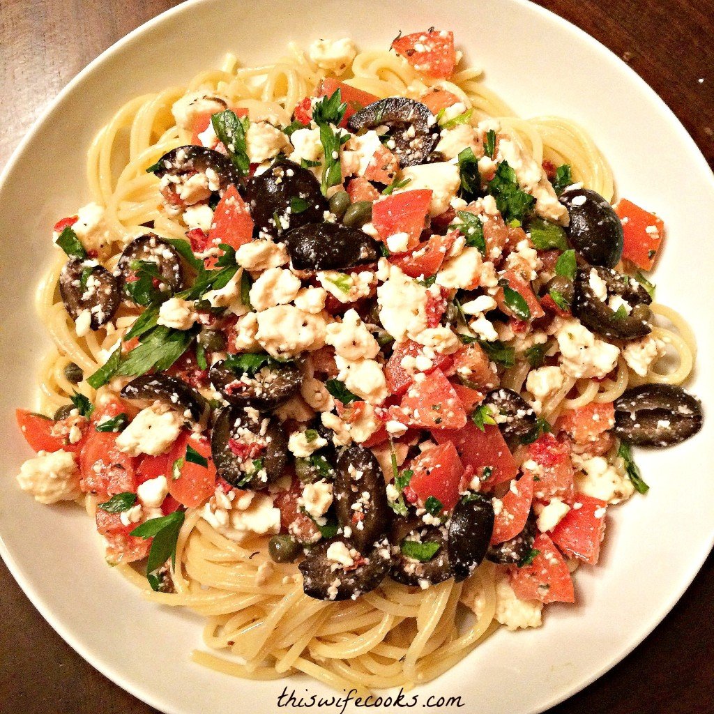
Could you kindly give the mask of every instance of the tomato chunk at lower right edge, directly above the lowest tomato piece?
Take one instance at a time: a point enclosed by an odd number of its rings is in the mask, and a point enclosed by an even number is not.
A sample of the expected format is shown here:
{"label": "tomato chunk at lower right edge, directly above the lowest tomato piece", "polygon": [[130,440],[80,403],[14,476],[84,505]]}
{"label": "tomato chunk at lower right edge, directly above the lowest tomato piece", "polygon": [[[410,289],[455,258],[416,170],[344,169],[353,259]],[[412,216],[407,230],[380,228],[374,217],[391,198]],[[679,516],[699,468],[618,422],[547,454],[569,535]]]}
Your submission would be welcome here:
{"label": "tomato chunk at lower right edge, directly above the lowest tomato piece", "polygon": [[550,531],[550,538],[565,555],[595,565],[600,557],[608,504],[584,493],[575,493],[567,503],[570,511]]}

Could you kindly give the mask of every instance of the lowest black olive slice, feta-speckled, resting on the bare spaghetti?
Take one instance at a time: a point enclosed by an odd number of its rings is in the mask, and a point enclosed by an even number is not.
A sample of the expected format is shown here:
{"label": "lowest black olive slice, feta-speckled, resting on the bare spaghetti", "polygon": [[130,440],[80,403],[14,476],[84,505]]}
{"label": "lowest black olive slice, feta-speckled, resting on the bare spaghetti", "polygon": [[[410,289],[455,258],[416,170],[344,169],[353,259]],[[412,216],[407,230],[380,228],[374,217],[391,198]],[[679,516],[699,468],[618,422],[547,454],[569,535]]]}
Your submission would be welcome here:
{"label": "lowest black olive slice, feta-speckled, resting on the bare spaghetti", "polygon": [[[349,540],[335,538],[318,543],[298,565],[303,574],[303,590],[316,600],[348,600],[377,588],[389,571],[389,543],[384,538],[366,551],[357,567],[344,570],[328,560],[327,550],[335,542],[351,547]],[[337,567],[335,567],[337,566]]]}

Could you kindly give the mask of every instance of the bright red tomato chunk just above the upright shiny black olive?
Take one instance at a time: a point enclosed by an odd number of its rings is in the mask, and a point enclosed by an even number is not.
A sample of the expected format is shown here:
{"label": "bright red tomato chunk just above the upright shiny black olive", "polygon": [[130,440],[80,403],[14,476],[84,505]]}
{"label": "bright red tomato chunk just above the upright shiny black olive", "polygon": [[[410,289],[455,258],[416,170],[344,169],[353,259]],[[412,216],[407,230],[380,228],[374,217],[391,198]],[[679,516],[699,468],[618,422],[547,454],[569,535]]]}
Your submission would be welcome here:
{"label": "bright red tomato chunk just above the upright shiny black olive", "polygon": [[456,506],[463,463],[451,441],[424,451],[409,468],[414,472],[409,486],[416,493],[419,506],[423,507],[429,496],[441,501],[445,511],[451,511]]}

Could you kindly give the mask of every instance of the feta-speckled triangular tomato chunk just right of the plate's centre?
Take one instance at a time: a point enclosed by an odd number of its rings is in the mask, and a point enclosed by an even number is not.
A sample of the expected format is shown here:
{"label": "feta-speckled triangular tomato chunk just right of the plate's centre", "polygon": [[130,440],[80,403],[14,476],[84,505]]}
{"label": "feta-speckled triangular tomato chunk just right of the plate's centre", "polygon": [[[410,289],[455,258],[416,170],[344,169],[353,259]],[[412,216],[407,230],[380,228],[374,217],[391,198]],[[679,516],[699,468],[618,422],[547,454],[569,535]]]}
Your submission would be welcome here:
{"label": "feta-speckled triangular tomato chunk just right of the plate's centre", "polygon": [[414,382],[401,405],[390,408],[390,414],[407,426],[429,429],[459,429],[466,424],[466,412],[441,369]]}

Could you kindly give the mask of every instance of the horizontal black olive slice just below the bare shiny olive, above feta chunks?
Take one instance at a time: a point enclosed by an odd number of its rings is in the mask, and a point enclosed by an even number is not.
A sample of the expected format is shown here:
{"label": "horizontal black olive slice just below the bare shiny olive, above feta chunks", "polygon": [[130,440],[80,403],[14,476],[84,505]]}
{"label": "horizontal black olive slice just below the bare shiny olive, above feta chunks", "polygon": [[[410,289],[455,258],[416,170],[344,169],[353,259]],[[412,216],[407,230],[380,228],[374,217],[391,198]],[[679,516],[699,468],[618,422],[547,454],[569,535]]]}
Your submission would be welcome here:
{"label": "horizontal black olive slice just below the bare shiny olive, above feta chunks", "polygon": [[376,263],[381,256],[374,238],[338,223],[308,223],[290,231],[285,244],[296,270],[343,270]]}

